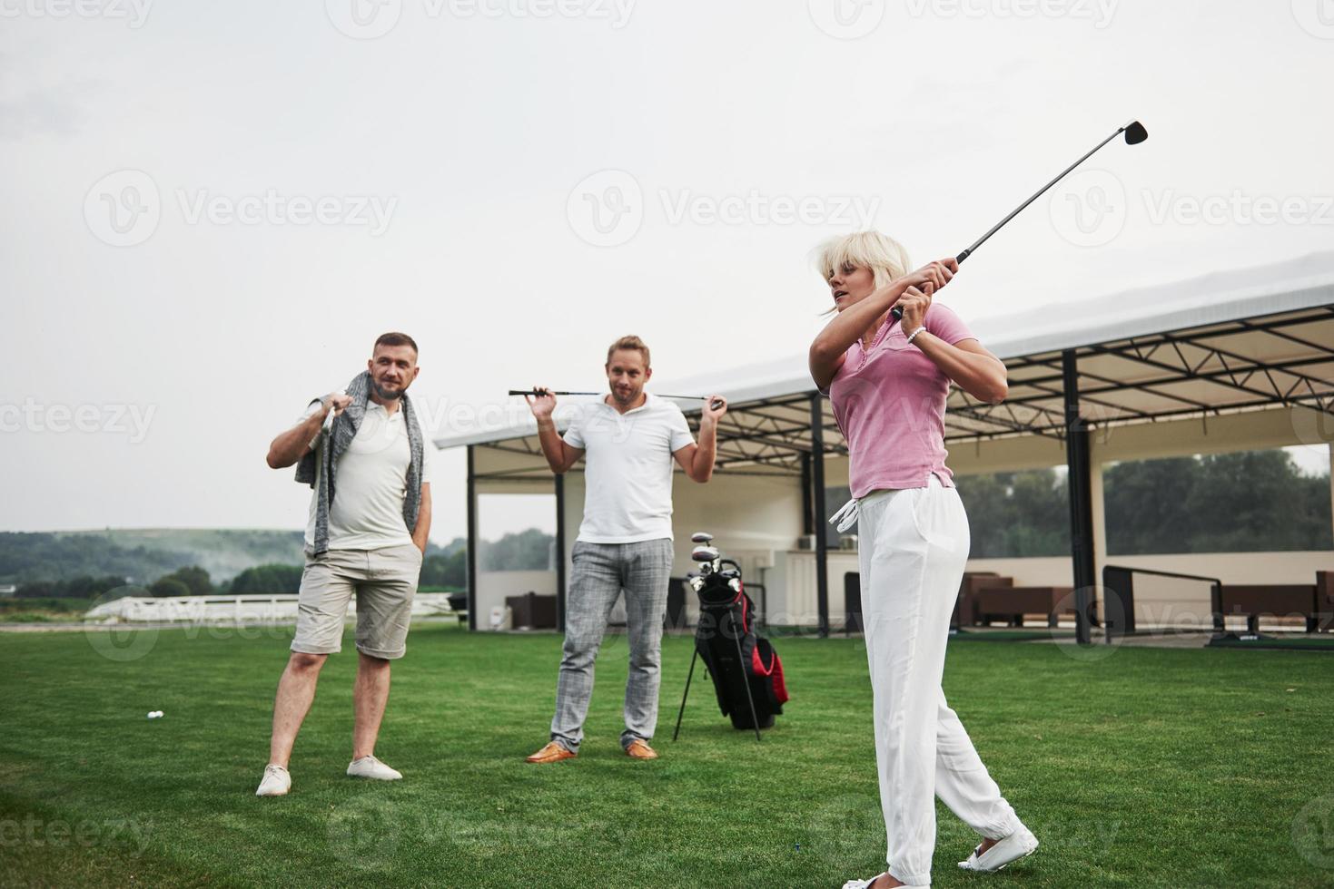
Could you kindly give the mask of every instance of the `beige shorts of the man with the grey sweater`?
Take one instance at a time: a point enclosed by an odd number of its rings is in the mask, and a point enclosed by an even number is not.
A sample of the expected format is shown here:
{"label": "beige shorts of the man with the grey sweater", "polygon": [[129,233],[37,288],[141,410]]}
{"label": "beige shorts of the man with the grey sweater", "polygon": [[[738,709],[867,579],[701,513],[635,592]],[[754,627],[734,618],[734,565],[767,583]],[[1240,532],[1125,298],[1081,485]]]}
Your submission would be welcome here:
{"label": "beige shorts of the man with the grey sweater", "polygon": [[386,660],[403,657],[420,574],[422,550],[414,544],[307,556],[292,650],[343,650],[343,618],[356,593],[356,650]]}

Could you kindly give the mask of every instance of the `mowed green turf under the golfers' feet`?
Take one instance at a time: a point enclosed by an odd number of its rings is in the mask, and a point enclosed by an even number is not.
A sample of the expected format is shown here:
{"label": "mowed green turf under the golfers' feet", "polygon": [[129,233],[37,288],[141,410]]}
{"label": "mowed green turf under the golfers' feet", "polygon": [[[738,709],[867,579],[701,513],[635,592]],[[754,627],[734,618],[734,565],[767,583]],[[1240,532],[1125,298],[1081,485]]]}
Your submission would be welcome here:
{"label": "mowed green turf under the golfers' feet", "polygon": [[[662,758],[638,762],[608,637],[583,753],[534,766],[560,638],[418,628],[378,749],[406,777],[378,784],[343,774],[347,638],[292,793],[260,800],[287,634],[111,650],[135,660],[96,650],[105,636],[0,634],[0,885],[840,886],[883,869],[859,640],[778,640],[792,701],[762,744],[699,670],[671,742],[691,649],[666,640]],[[1331,680],[1334,656],[1305,652],[951,644],[946,693],[1042,848],[964,874],[976,837],[938,806],[935,885],[1334,885]]]}

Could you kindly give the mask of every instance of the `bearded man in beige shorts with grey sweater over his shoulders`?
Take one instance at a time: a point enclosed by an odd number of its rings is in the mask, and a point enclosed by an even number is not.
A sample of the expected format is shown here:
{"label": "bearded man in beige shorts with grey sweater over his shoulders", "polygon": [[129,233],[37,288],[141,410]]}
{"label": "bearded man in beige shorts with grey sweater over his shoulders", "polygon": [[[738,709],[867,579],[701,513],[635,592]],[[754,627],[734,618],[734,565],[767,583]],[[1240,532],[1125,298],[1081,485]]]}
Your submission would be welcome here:
{"label": "bearded man in beige shorts with grey sweater over his shoulders", "polygon": [[[296,733],[315,700],[329,654],[342,649],[343,617],[356,594],[356,682],[352,686],[351,777],[395,781],[375,758],[375,740],[390,697],[390,661],[403,657],[431,530],[431,465],[407,391],[416,380],[416,343],[406,333],[375,341],[367,369],[347,387],[311,401],[295,427],[268,449],[268,465],[296,465],[311,485],[305,570],[296,636],[273,701],[268,766],[256,796],[292,786],[287,764]],[[335,484],[336,482],[336,484]]]}

